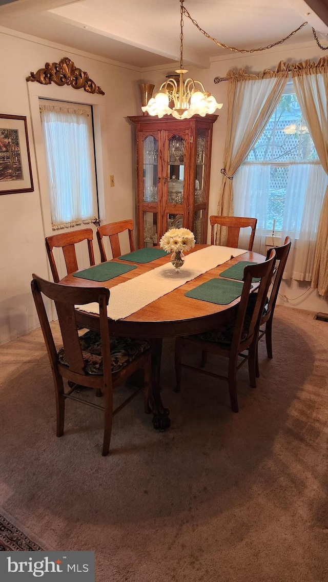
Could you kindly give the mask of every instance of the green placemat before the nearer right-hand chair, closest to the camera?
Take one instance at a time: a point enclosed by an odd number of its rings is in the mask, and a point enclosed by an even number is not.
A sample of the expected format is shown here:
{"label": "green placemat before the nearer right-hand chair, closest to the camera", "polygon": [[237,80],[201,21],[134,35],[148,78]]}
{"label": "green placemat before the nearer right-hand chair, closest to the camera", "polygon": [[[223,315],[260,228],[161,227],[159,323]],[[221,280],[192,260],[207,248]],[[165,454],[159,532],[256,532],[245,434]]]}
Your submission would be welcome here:
{"label": "green placemat before the nearer right-hand chair, closest to the camera", "polygon": [[239,283],[239,281],[223,281],[215,278],[187,291],[185,296],[218,305],[228,305],[241,295],[243,285],[244,283]]}

